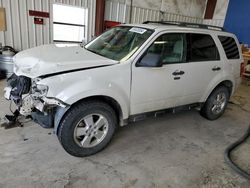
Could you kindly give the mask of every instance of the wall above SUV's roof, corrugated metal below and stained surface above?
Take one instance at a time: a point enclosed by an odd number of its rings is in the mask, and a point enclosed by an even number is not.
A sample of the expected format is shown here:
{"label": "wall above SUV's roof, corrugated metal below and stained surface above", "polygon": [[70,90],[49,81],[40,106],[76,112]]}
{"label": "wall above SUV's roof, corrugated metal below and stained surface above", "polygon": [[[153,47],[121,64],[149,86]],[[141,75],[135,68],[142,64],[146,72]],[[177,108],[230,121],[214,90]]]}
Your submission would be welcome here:
{"label": "wall above SUV's roof, corrugated metal below and stained surface above", "polygon": [[[132,23],[184,21],[223,26],[229,0],[217,1],[213,19],[205,20],[207,0],[133,0]],[[131,0],[106,0],[105,19],[129,23]]]}

